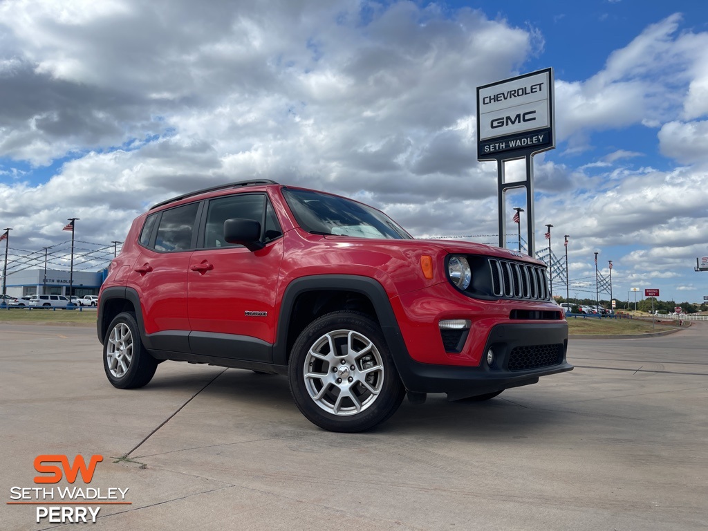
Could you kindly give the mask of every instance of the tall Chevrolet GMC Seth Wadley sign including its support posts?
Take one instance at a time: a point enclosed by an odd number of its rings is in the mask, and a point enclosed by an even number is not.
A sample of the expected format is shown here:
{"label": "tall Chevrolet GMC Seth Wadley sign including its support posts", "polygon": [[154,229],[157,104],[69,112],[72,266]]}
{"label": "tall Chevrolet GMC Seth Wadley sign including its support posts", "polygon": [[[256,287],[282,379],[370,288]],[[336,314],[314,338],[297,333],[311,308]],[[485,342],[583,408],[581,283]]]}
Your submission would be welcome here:
{"label": "tall Chevrolet GMC Seth Wadley sign including its support posts", "polygon": [[[506,247],[506,192],[526,188],[527,250],[535,252],[533,156],[554,149],[553,69],[477,87],[477,160],[496,161],[499,246]],[[504,163],[525,159],[525,181],[506,182]]]}

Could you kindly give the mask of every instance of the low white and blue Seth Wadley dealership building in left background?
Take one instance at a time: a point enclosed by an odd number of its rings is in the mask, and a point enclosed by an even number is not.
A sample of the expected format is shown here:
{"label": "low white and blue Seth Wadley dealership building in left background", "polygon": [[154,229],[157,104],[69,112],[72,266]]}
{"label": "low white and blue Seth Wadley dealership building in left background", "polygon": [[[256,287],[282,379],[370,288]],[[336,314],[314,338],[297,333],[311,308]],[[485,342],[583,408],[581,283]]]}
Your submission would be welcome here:
{"label": "low white and blue Seth Wadley dealership building in left background", "polygon": [[[105,280],[106,270],[96,273],[74,271],[72,275],[72,294],[76,297],[98,295],[98,290]],[[69,271],[47,269],[25,269],[7,275],[6,292],[11,297],[23,295],[69,295]]]}

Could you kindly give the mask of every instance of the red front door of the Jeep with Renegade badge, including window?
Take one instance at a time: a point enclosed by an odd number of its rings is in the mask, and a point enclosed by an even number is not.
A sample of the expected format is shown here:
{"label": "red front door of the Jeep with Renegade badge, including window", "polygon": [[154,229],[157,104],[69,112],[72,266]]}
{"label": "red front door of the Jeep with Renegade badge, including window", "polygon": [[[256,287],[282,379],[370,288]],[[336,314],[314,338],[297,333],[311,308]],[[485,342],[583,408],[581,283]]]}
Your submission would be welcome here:
{"label": "red front door of the Jeep with Renegade badge, including window", "polygon": [[[200,248],[192,253],[188,272],[193,353],[271,361],[283,243],[268,195],[213,198],[204,210]],[[234,218],[261,224],[263,249],[249,251],[224,240],[224,222]]]}

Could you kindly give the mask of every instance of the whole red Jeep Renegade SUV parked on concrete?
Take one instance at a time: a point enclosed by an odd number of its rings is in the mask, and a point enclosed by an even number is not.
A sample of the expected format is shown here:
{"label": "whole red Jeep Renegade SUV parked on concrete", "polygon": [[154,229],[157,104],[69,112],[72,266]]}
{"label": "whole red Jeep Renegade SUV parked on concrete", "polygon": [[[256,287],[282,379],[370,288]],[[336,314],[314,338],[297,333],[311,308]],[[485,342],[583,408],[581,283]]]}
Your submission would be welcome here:
{"label": "whole red Jeep Renegade SUV parked on concrete", "polygon": [[144,386],[161,360],[287,375],[304,416],[342,432],[406,392],[486,400],[573,368],[542,262],[413,239],[360,202],[267,180],[137,217],[97,327],[115,387]]}

